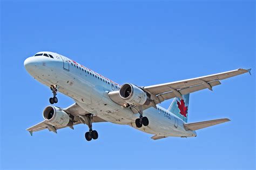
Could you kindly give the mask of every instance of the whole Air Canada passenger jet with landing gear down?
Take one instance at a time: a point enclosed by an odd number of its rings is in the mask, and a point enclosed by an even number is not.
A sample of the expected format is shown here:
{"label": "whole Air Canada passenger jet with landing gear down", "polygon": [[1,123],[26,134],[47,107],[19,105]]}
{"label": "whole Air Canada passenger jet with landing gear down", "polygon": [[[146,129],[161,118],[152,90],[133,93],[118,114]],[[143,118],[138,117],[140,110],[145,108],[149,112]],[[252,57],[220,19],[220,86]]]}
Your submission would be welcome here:
{"label": "whole Air Canada passenger jet with landing gear down", "polygon": [[[50,87],[50,104],[58,102],[57,92],[71,97],[75,103],[67,108],[48,105],[43,110],[44,121],[26,129],[33,132],[48,129],[57,133],[62,128],[86,124],[89,131],[85,139],[98,138],[93,123],[111,122],[129,125],[137,130],[153,134],[152,139],[166,137],[196,137],[196,130],[228,122],[221,118],[211,121],[187,123],[190,93],[212,90],[220,80],[244,73],[251,69],[235,69],[228,72],[201,76],[194,79],[136,86],[118,83],[80,65],[78,62],[53,52],[38,52],[24,61],[27,72],[37,81]],[[168,109],[159,103],[173,98]]]}

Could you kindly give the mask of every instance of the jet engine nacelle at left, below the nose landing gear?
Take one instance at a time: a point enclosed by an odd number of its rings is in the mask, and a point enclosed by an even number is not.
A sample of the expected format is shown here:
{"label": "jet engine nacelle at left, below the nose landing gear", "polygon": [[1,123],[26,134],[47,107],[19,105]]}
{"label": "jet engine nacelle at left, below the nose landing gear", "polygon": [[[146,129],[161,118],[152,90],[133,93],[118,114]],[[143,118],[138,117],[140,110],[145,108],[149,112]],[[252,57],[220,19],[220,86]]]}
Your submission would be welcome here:
{"label": "jet engine nacelle at left, below the nose landing gear", "polygon": [[43,111],[46,122],[53,126],[72,125],[69,115],[62,109],[49,105]]}

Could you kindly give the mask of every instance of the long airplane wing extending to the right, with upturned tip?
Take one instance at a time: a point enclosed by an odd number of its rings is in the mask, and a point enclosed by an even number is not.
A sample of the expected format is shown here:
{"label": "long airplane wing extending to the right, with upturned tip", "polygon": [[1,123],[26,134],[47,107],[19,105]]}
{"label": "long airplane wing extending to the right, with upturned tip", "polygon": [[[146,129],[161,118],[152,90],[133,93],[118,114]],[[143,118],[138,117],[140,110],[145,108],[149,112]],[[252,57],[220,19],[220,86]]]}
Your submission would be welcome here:
{"label": "long airplane wing extending to the right, with upturned tip", "polygon": [[[165,100],[169,100],[170,98],[174,97],[180,97],[181,95],[185,95],[188,93],[193,93],[195,91],[203,90],[203,89],[209,89],[212,90],[212,87],[218,86],[220,83],[220,80],[227,79],[233,76],[237,76],[240,74],[244,74],[249,72],[251,69],[235,69],[231,70],[229,72],[223,72],[218,74],[212,74],[202,77],[197,77],[194,79],[187,79],[187,80],[181,80],[176,82],[170,82],[170,83],[164,83],[164,84],[157,84],[153,86],[146,86],[146,87],[140,87],[144,91],[146,91],[148,94],[150,94],[151,102],[149,105],[142,105],[142,110],[145,110],[150,107],[156,107],[156,104],[161,103]],[[251,74],[251,73],[250,73]],[[137,105],[129,105],[123,100],[120,95],[119,91],[111,91],[109,93],[109,97],[112,101],[129,107],[131,110],[135,113],[138,113],[139,107]]]}

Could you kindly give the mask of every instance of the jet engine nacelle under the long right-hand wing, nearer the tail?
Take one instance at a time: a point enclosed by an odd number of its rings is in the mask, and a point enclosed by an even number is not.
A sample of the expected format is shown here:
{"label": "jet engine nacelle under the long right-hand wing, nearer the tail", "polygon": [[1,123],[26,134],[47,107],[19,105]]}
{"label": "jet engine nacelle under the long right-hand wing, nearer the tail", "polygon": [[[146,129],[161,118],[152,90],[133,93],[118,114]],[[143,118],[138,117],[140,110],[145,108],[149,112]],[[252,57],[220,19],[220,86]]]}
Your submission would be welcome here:
{"label": "jet engine nacelle under the long right-hand wing, nearer the tail", "polygon": [[123,84],[119,90],[119,95],[129,104],[148,105],[150,103],[149,100],[147,100],[145,91],[130,83]]}

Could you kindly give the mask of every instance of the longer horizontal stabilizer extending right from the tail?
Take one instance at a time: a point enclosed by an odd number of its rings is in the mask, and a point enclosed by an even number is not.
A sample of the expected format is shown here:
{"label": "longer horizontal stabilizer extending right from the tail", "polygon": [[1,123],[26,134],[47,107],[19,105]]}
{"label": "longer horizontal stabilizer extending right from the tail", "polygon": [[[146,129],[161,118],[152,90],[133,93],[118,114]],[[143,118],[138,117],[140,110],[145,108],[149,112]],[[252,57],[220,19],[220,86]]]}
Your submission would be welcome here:
{"label": "longer horizontal stabilizer extending right from the tail", "polygon": [[212,121],[187,123],[187,124],[184,124],[184,127],[185,127],[186,130],[198,130],[198,129],[207,128],[209,126],[217,125],[217,124],[228,122],[228,121],[230,121],[230,119],[228,119],[228,118],[215,119],[215,120],[212,120]]}

